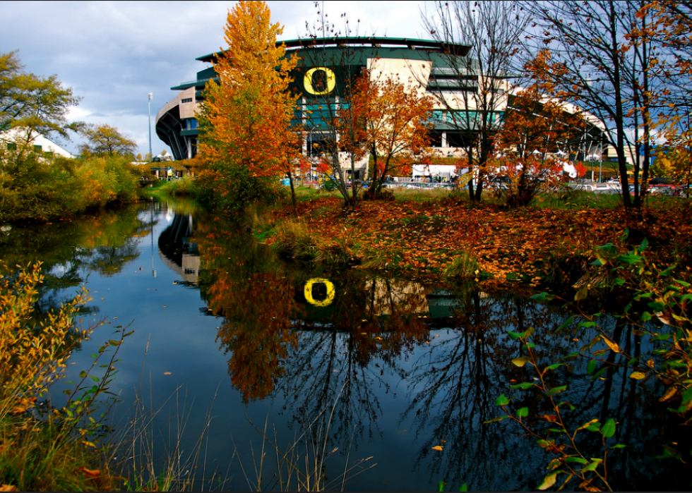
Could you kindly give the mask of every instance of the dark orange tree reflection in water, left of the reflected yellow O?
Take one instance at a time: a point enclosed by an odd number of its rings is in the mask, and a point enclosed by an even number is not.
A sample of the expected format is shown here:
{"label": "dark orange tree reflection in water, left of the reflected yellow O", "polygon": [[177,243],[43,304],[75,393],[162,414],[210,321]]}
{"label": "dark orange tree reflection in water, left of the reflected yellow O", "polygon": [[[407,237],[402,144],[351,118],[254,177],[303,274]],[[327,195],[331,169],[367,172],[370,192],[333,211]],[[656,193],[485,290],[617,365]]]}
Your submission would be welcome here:
{"label": "dark orange tree reflection in water, left of the reflected yellow O", "polygon": [[228,372],[244,401],[268,396],[284,375],[288,346],[297,335],[294,288],[271,252],[238,224],[199,221],[201,294],[212,315],[224,317],[217,341],[229,354]]}

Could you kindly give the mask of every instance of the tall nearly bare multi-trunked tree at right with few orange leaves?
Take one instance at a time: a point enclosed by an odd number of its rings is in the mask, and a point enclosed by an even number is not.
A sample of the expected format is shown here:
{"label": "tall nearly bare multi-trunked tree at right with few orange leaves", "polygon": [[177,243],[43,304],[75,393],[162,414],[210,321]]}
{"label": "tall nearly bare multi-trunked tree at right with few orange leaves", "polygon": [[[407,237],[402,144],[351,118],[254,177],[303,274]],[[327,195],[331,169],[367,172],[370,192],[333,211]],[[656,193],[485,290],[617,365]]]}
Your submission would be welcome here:
{"label": "tall nearly bare multi-trunked tree at right with few orange leaves", "polygon": [[[640,15],[643,1],[523,2],[539,26],[528,44],[551,50],[540,78],[550,80],[556,96],[605,123],[605,138],[617,155],[626,207],[642,205],[652,152],[652,121],[657,109],[654,67],[658,53]],[[627,180],[633,162],[634,190]],[[641,172],[642,182],[639,183]],[[633,191],[633,197],[630,192]]]}

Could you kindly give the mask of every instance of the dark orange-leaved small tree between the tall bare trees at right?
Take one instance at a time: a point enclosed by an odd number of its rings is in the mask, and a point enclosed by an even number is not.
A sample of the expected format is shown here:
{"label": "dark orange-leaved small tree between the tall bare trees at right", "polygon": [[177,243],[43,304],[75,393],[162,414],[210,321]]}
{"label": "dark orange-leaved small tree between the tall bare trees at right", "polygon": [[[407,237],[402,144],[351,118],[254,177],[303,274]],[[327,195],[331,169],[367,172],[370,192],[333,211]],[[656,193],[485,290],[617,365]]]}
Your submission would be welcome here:
{"label": "dark orange-leaved small tree between the tall bare trees at right", "polygon": [[[543,63],[545,56],[547,52],[542,52],[529,65]],[[538,80],[511,96],[496,135],[494,174],[506,183],[501,191],[513,207],[528,205],[540,190],[566,177],[565,162],[556,154],[577,145],[583,133],[585,122],[580,115],[568,113],[542,94],[549,87]]]}

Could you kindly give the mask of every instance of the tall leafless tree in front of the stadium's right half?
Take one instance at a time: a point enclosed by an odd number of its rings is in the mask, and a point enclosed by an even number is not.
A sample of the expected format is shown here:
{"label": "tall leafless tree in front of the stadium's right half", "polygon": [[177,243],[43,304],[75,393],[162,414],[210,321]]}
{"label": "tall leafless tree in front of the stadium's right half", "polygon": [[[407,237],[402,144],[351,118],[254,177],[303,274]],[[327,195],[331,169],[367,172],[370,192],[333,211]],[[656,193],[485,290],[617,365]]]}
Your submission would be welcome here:
{"label": "tall leafless tree in front of the stadium's right half", "polygon": [[[459,135],[472,201],[479,201],[494,152],[494,135],[506,103],[506,80],[513,75],[513,59],[529,17],[513,2],[436,1],[424,12],[422,23],[443,44],[450,70],[428,84],[446,109],[446,124]],[[469,45],[467,56],[459,46]],[[450,90],[449,87],[455,87]]]}

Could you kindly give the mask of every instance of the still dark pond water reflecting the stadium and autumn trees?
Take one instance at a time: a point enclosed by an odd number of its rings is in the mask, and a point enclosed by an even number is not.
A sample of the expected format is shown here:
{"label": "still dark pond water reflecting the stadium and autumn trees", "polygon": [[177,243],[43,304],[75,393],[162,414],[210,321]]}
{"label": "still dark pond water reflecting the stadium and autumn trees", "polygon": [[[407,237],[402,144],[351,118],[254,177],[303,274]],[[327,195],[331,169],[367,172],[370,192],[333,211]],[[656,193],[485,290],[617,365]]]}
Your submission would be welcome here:
{"label": "still dark pond water reflecting the stadium and autumn trees", "polygon": [[[175,444],[189,454],[203,437],[193,473],[211,481],[206,487],[218,488],[222,477],[224,489],[253,488],[266,430],[281,451],[297,442],[301,456],[315,446],[331,453],[323,468],[329,489],[434,491],[440,481],[452,490],[536,489],[554,456],[516,423],[484,424],[503,414],[495,401],[506,394],[516,399],[513,409],[530,408],[532,427],[547,426],[535,418],[547,403],[510,389],[535,373],[511,364],[523,354],[507,331],[535,327],[546,364],[595,335],[575,328],[552,335],[571,314],[513,293],[301,268],[186,202],[0,234],[6,264],[43,262],[41,311],[81,284],[93,298],[83,319],[104,323],[73,353],[68,379],[90,367],[90,355],[119,327],[134,331],[118,354],[110,390],[120,398],[110,420],[124,430],[137,406],[157,413],[147,454],[160,467]],[[650,343],[618,319],[603,323],[626,351],[648,351]],[[616,368],[592,380],[585,360],[569,363],[549,378],[551,387],[568,386],[563,400],[575,405],[574,428],[595,418],[618,422],[612,444],[626,448],[609,459],[612,485],[688,489],[684,465],[655,458],[664,444],[688,451],[692,443],[657,402],[659,384]],[[596,451],[600,435],[581,433],[585,449]],[[305,436],[316,445],[306,446]],[[278,488],[275,453],[265,451],[263,487]],[[362,473],[343,485],[351,466],[348,475]]]}

